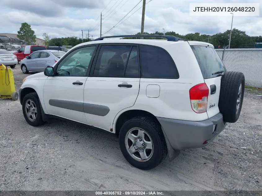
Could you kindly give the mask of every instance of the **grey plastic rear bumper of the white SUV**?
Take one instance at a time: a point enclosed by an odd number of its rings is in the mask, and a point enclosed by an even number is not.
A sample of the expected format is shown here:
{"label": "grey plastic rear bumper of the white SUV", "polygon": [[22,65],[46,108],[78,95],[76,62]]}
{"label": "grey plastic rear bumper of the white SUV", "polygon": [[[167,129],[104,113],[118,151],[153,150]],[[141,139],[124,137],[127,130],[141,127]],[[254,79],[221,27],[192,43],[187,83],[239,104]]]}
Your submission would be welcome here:
{"label": "grey plastic rear bumper of the white SUV", "polygon": [[[227,124],[224,123],[221,113],[203,121],[157,118],[174,150],[206,146],[224,130]],[[204,141],[207,143],[203,144]]]}

